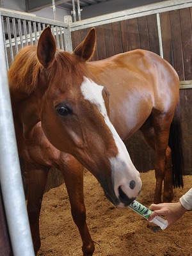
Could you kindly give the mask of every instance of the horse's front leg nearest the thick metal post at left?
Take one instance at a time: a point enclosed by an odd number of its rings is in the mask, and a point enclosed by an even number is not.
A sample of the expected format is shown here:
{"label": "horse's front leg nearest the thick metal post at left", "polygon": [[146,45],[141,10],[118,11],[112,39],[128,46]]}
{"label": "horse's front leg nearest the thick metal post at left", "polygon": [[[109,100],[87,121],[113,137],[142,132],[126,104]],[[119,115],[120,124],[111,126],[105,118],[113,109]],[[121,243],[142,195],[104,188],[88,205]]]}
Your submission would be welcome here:
{"label": "horse's front leg nearest the thick metal post at left", "polygon": [[31,235],[35,255],[41,246],[39,232],[39,216],[44,195],[45,186],[47,183],[48,170],[40,166],[29,165],[28,168],[28,216],[31,227]]}

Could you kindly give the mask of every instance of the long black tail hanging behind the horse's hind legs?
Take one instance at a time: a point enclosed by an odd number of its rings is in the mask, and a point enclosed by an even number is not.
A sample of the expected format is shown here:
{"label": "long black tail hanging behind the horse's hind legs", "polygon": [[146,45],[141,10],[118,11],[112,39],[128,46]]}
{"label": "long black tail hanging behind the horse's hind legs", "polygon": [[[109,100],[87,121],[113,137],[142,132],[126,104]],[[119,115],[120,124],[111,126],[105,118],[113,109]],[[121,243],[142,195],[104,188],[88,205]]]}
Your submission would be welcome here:
{"label": "long black tail hanging behind the horse's hind legs", "polygon": [[182,149],[182,129],[179,104],[175,109],[175,115],[170,127],[169,146],[172,149],[173,187],[183,188],[184,183],[182,175],[184,175],[184,156]]}

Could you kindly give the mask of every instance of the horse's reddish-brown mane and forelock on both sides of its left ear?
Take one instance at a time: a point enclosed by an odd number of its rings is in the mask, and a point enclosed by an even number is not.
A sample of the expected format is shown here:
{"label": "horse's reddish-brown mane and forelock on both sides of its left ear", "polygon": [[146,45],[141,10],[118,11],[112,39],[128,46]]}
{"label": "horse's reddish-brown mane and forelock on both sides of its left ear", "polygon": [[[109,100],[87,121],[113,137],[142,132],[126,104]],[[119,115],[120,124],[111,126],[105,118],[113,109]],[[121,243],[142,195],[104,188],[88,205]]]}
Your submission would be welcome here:
{"label": "horse's reddish-brown mane and forelock on both sides of its left ear", "polygon": [[[36,46],[25,47],[15,56],[8,71],[11,92],[17,91],[29,95],[38,85],[38,75],[42,65],[38,61],[36,48]],[[56,74],[65,74],[65,71],[70,74],[76,72],[82,76],[82,67],[81,61],[77,60],[74,54],[57,50],[51,67],[47,68],[48,81],[51,82]]]}

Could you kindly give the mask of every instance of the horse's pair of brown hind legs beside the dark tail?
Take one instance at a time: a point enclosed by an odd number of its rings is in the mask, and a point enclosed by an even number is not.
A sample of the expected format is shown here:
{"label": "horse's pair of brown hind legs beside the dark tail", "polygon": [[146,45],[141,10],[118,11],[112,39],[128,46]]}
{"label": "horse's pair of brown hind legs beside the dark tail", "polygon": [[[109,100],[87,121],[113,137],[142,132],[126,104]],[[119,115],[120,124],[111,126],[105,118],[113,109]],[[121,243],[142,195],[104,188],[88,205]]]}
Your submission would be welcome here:
{"label": "horse's pair of brown hind legs beside the dark tail", "polygon": [[148,145],[156,151],[156,191],[154,204],[159,204],[161,200],[161,192],[164,180],[164,199],[166,202],[172,200],[173,187],[172,187],[172,152],[168,147],[168,138],[170,131],[170,122],[172,116],[166,119],[164,124],[165,116],[154,115],[150,116],[145,124],[141,127],[141,132]]}

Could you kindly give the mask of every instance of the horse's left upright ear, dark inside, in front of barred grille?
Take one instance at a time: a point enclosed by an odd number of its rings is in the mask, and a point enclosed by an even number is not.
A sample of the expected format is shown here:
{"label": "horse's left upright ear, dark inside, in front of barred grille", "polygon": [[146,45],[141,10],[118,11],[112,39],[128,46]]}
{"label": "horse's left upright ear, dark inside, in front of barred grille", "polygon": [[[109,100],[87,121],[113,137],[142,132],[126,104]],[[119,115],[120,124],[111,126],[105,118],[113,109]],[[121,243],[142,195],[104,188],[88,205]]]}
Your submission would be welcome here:
{"label": "horse's left upright ear, dark inside, in front of barred grille", "polygon": [[44,29],[37,45],[37,57],[44,67],[49,67],[54,60],[56,52],[56,42],[51,33],[51,28],[48,26]]}

